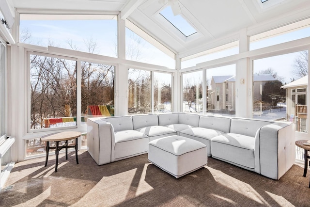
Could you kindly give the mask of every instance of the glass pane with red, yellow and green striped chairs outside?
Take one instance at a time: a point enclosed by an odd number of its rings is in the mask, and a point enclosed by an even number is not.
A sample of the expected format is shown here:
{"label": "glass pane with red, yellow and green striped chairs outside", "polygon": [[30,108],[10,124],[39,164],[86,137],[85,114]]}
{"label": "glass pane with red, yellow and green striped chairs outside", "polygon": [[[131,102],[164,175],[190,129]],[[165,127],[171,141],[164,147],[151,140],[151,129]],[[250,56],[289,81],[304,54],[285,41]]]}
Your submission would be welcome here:
{"label": "glass pane with red, yellow and green striped chairs outside", "polygon": [[85,117],[114,116],[115,66],[81,62],[81,123]]}

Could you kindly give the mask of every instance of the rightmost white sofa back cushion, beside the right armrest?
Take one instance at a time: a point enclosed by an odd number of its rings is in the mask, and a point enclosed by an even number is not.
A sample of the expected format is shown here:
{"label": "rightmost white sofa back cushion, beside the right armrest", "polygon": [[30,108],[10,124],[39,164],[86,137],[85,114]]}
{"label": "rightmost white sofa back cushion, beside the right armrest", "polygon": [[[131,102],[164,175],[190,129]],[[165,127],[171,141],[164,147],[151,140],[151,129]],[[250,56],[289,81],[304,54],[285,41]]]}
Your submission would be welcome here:
{"label": "rightmost white sofa back cushion, beside the right armrest", "polygon": [[231,133],[255,137],[256,131],[265,125],[273,124],[272,121],[255,119],[232,118]]}

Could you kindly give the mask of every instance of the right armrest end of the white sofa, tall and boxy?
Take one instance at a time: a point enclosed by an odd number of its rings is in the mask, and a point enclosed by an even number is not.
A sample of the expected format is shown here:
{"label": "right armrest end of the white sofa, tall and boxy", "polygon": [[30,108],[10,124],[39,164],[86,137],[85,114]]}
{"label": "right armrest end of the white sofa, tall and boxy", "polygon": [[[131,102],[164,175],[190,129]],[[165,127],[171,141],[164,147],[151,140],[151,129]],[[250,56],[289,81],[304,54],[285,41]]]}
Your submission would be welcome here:
{"label": "right armrest end of the white sofa, tall and boxy", "polygon": [[255,137],[255,171],[279,180],[295,162],[294,124],[276,122],[258,129]]}

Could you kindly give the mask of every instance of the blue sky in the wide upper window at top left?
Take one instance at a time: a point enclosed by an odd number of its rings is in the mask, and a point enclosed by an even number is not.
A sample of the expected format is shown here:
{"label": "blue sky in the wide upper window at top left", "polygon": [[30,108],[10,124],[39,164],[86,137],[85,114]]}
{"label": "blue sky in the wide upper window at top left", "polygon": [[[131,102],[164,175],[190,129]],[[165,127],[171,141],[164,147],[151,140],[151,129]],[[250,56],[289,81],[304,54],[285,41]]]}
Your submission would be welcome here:
{"label": "blue sky in the wide upper window at top left", "polygon": [[72,40],[81,51],[87,51],[85,42],[92,39],[97,43],[99,54],[117,57],[117,20],[21,21],[20,31],[26,29],[31,33],[31,39],[26,43],[47,47],[51,41],[55,47],[69,48],[67,41]]}

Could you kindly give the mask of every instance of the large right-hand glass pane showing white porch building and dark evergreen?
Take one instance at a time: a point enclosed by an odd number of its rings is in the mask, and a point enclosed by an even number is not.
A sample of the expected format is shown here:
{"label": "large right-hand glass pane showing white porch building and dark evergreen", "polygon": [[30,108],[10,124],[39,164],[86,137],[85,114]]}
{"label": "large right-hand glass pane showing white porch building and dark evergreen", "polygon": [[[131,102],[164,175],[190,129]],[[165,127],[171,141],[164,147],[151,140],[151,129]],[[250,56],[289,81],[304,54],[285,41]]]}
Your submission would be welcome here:
{"label": "large right-hand glass pane showing white porch building and dark evergreen", "polygon": [[[297,130],[307,131],[306,124],[300,130],[300,119],[306,123],[307,112],[302,117],[298,112],[301,110],[299,108],[307,111],[306,92],[298,93],[304,91],[308,85],[308,76],[303,75],[304,70],[308,71],[308,58],[304,57],[308,57],[308,51],[253,61],[254,118],[294,121]],[[300,106],[297,108],[295,103]]]}

